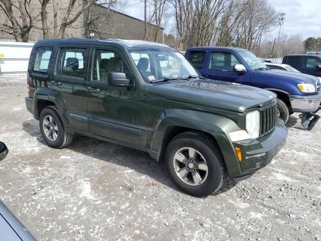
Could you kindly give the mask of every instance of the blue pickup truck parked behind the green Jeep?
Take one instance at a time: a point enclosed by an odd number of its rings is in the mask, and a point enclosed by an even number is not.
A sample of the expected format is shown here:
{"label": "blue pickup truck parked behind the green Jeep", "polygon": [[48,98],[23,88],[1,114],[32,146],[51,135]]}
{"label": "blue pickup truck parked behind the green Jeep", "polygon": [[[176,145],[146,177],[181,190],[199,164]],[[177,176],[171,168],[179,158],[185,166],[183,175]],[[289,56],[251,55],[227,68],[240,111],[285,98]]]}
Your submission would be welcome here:
{"label": "blue pickup truck parked behind the green Jeep", "polygon": [[311,130],[320,116],[321,84],[317,77],[267,68],[252,52],[233,47],[193,47],[185,57],[209,79],[235,82],[277,94],[278,116],[286,123],[293,112]]}

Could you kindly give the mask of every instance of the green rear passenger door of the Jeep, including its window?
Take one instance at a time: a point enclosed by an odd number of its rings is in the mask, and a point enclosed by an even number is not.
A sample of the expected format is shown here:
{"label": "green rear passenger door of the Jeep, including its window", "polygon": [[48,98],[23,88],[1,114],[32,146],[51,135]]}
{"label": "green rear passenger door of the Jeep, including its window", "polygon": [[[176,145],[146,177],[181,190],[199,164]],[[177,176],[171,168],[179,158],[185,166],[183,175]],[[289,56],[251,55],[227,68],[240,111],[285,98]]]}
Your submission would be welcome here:
{"label": "green rear passenger door of the Jeep, including its window", "polygon": [[86,86],[89,51],[88,45],[60,45],[50,82],[50,88],[61,93],[65,101],[71,127],[85,132],[89,131]]}

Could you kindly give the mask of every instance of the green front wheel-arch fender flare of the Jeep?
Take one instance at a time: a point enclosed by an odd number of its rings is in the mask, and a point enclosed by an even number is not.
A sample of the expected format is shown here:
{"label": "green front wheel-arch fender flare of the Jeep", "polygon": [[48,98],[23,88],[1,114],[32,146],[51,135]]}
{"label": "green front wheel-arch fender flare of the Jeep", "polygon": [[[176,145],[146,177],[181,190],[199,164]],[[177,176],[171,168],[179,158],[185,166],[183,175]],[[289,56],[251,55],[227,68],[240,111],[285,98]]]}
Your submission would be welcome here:
{"label": "green front wheel-arch fender flare of the Jeep", "polygon": [[212,135],[222,151],[229,174],[242,174],[233,143],[228,138],[228,133],[238,131],[240,128],[231,119],[197,110],[166,109],[159,114],[154,123],[149,144],[150,150],[158,153],[157,160],[162,153],[165,134],[171,127],[194,129]]}

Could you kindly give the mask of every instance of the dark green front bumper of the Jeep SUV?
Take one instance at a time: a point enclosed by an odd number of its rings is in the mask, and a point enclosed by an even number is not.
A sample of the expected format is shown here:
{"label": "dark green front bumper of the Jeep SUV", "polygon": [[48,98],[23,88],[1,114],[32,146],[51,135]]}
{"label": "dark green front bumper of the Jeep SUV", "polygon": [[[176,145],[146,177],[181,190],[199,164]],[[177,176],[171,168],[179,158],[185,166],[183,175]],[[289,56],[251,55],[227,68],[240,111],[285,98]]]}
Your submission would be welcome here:
{"label": "dark green front bumper of the Jeep SUV", "polygon": [[242,161],[239,163],[243,174],[233,178],[250,177],[248,174],[268,165],[285,145],[286,137],[287,129],[282,121],[278,121],[274,131],[265,137],[235,142],[234,146],[242,152]]}

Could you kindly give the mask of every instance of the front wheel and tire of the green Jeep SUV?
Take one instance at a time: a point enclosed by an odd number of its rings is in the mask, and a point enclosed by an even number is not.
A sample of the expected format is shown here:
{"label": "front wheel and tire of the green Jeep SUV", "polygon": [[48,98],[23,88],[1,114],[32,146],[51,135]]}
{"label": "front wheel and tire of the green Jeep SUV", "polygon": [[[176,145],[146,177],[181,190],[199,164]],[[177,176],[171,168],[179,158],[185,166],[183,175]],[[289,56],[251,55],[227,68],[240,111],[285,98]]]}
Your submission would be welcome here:
{"label": "front wheel and tire of the green Jeep SUV", "polygon": [[226,168],[218,146],[206,135],[185,132],[168,145],[165,160],[174,183],[193,196],[207,196],[218,191]]}

